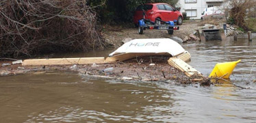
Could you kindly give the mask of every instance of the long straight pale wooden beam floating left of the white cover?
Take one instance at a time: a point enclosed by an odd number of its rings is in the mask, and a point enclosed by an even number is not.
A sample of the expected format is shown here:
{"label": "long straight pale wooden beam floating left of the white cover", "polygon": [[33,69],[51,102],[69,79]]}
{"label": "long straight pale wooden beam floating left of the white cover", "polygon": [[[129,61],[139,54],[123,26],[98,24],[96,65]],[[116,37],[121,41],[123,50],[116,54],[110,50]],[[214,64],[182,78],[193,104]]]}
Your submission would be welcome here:
{"label": "long straight pale wooden beam floating left of the white cover", "polygon": [[56,59],[26,59],[23,66],[49,66],[68,64],[104,64],[104,57],[77,57],[77,58],[56,58]]}

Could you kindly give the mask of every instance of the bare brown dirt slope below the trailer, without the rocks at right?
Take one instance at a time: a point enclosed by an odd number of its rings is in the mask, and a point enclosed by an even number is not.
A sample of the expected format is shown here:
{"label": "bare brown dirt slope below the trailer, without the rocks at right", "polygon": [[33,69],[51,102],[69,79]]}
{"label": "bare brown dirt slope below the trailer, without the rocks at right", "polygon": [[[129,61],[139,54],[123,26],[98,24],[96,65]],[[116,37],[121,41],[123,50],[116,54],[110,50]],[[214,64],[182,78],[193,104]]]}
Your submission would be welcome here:
{"label": "bare brown dirt slope below the trailer, without the rocks at right", "polygon": [[183,25],[179,26],[179,30],[174,31],[173,35],[168,34],[167,30],[157,29],[146,29],[141,35],[138,33],[138,28],[133,25],[127,27],[105,25],[103,27],[103,37],[114,47],[119,47],[123,44],[122,40],[126,38],[171,38],[172,36],[177,36],[183,39],[185,36],[194,33],[196,29],[201,29],[202,26],[200,25],[201,20],[187,20]]}

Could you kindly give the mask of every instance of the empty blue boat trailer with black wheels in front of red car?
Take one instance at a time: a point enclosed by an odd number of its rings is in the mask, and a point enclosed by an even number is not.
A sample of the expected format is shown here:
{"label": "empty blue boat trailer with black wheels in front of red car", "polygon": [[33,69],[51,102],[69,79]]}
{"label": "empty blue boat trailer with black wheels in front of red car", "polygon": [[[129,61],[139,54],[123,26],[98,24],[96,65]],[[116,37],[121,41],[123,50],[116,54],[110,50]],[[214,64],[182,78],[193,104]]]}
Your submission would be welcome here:
{"label": "empty blue boat trailer with black wheels in front of red car", "polygon": [[161,23],[155,23],[149,19],[142,18],[139,20],[138,33],[143,34],[143,31],[146,29],[159,29],[167,30],[168,34],[172,35],[174,30],[179,30],[179,26],[176,25],[177,20],[174,21],[164,21],[159,18],[156,18]]}

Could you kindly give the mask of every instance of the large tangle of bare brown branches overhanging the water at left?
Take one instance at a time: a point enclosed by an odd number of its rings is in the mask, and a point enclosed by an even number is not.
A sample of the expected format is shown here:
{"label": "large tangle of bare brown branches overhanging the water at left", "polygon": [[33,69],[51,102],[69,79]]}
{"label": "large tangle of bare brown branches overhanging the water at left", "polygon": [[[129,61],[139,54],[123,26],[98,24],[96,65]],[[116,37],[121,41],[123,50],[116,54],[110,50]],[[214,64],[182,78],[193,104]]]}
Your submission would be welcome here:
{"label": "large tangle of bare brown branches overhanging the water at left", "polygon": [[0,1],[0,57],[103,47],[87,0]]}

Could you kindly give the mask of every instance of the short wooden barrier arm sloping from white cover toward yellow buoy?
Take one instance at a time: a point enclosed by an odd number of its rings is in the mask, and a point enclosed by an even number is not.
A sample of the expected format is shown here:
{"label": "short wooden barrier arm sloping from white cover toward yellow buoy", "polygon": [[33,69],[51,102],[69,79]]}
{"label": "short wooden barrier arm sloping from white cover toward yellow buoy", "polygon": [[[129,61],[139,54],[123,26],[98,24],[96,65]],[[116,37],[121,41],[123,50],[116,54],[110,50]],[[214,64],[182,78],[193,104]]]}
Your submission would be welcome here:
{"label": "short wooden barrier arm sloping from white cover toward yellow buoy", "polygon": [[168,60],[168,64],[181,70],[181,72],[184,72],[188,77],[191,77],[195,73],[201,74],[201,72],[197,71],[195,68],[179,58],[170,58]]}

